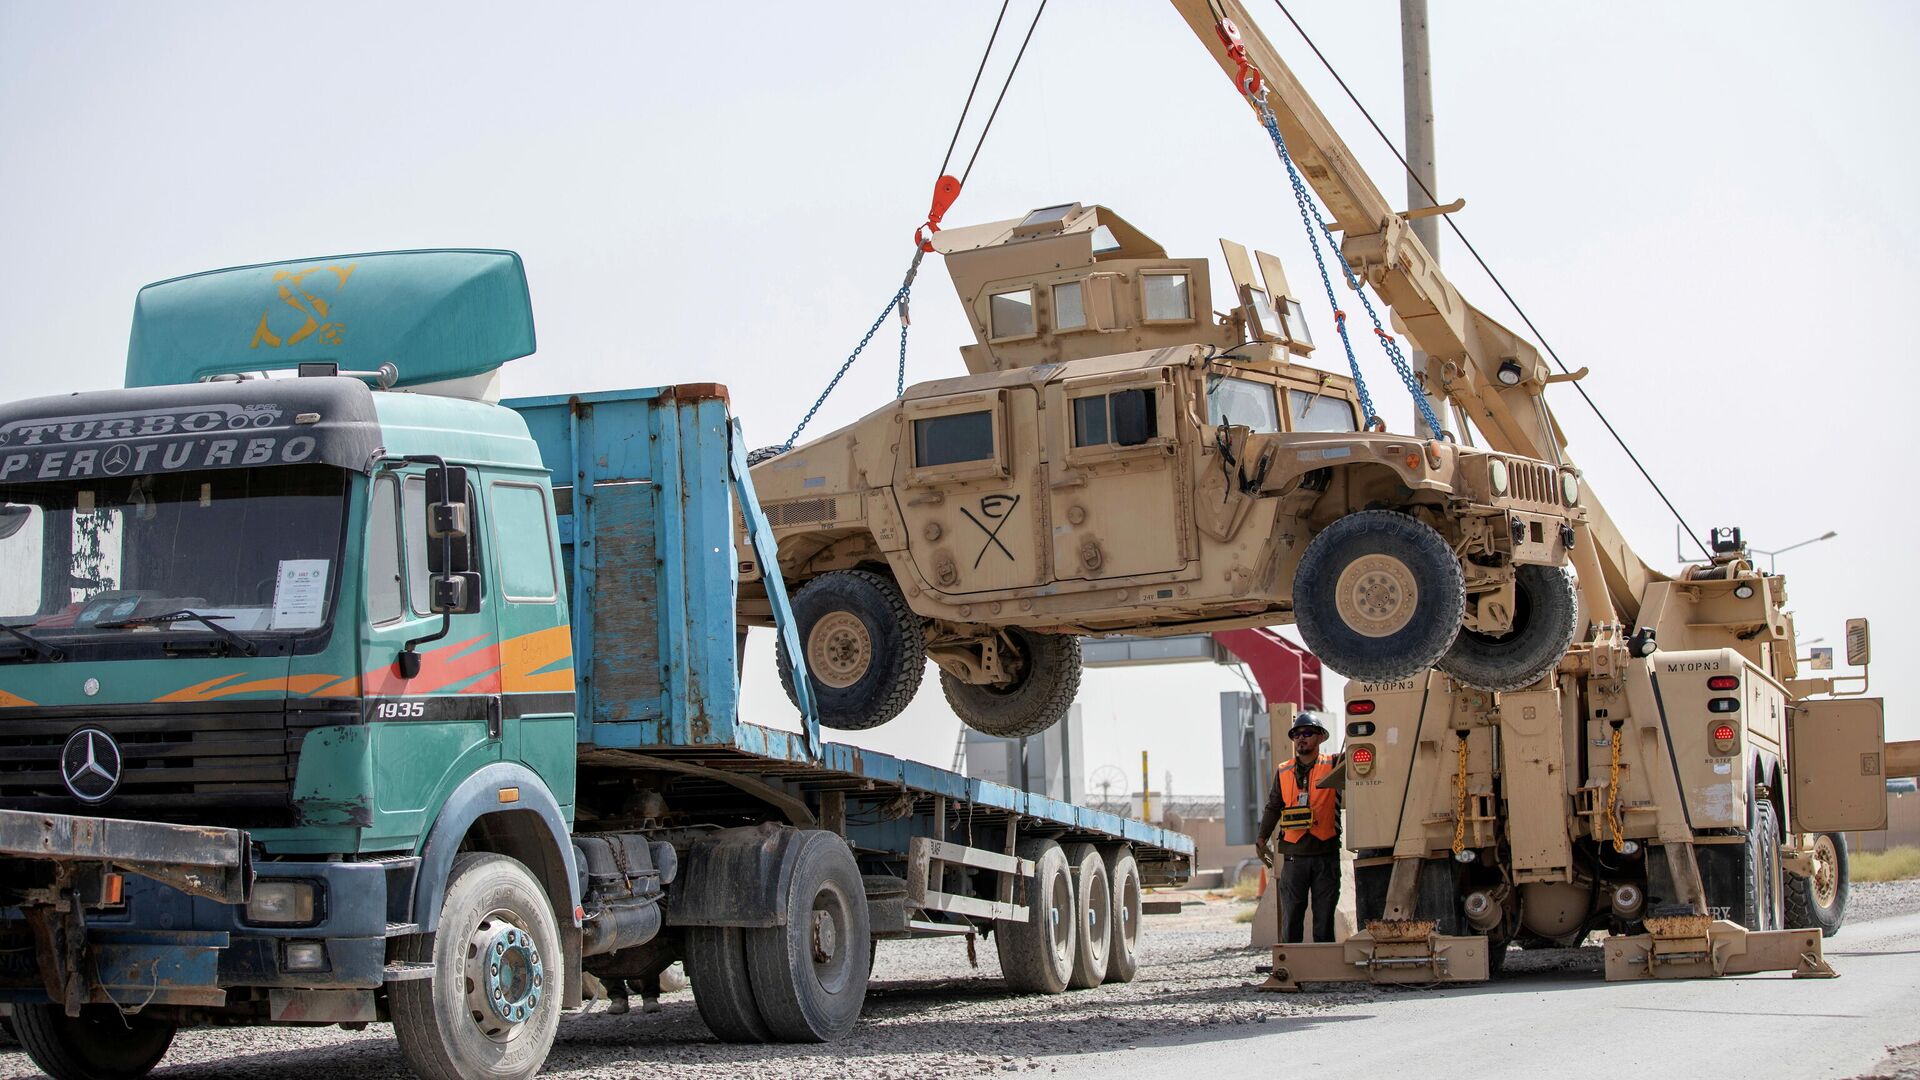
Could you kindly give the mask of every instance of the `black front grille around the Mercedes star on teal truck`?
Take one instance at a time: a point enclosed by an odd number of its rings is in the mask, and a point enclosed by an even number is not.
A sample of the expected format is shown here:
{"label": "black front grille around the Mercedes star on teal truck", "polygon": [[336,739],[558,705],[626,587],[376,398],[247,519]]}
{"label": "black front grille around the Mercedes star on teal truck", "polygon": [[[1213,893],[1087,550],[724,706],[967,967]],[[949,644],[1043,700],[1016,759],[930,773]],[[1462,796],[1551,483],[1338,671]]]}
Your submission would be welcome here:
{"label": "black front grille around the Mercedes star on teal truck", "polygon": [[[307,732],[357,711],[290,711],[284,701],[102,705],[0,711],[0,809],[129,817],[179,824],[292,824],[294,771]],[[60,749],[92,726],[121,748],[121,782],[84,803],[60,778]]]}

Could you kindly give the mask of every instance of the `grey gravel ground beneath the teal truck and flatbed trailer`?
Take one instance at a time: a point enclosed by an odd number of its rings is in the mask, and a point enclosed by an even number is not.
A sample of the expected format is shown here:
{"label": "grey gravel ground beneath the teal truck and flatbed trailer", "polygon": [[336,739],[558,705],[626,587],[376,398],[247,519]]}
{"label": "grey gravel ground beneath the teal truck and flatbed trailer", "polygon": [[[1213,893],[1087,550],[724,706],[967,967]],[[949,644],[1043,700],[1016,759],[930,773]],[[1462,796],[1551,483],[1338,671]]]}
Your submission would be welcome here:
{"label": "grey gravel ground beneath the teal truck and flatbed trailer", "polygon": [[[1192,897],[1198,899],[1198,897]],[[1920,911],[1920,880],[1859,882],[1849,920],[1887,919]],[[1131,984],[1102,986],[1062,997],[1021,997],[1000,984],[991,944],[981,942],[979,967],[968,967],[964,940],[883,942],[874,967],[866,1015],[852,1036],[833,1045],[730,1045],[716,1042],[693,1007],[691,992],[668,994],[659,1013],[609,1015],[605,1003],[563,1017],[561,1036],[547,1057],[545,1076],[632,1076],[634,1061],[649,1078],[812,1080],[864,1076],[876,1080],[933,1080],[985,1074],[1044,1074],[1050,1061],[1092,1049],[1114,1049],[1196,1030],[1221,1028],[1233,1038],[1242,1024],[1321,1013],[1338,1005],[1404,994],[1365,986],[1309,994],[1258,994],[1265,949],[1246,945],[1248,926],[1235,919],[1246,905],[1200,899],[1181,915],[1152,915],[1142,926],[1140,974]],[[1597,945],[1582,949],[1515,951],[1509,972],[1601,970]],[[1891,1051],[1893,1047],[1889,1047]],[[1903,1080],[1914,1068],[1905,1047],[1882,1068]],[[156,1072],[173,1080],[284,1076],[326,1070],[336,1076],[407,1076],[392,1028],[232,1028],[184,1032]],[[0,1034],[0,1080],[36,1076]]]}

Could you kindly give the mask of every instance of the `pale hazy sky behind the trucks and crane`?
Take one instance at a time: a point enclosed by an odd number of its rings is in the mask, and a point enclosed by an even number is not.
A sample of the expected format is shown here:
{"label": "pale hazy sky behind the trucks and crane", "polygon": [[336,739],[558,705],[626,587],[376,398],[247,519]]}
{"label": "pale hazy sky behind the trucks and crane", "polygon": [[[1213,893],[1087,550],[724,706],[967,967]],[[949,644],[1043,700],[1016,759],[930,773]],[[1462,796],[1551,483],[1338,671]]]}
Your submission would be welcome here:
{"label": "pale hazy sky behind the trucks and crane", "polygon": [[[1290,8],[1398,140],[1398,4]],[[540,329],[509,394],[720,380],[751,438],[780,442],[899,284],[996,10],[0,2],[4,392],[117,386],[156,279],[493,246],[526,258]],[[1400,202],[1398,165],[1279,10],[1254,15]],[[1837,530],[1778,569],[1803,642],[1874,619],[1889,738],[1920,738],[1920,590],[1897,569],[1920,375],[1893,319],[1920,286],[1916,46],[1920,8],[1897,2],[1432,2],[1440,198],[1467,198],[1459,225],[1695,528],[1776,550]],[[1071,200],[1175,256],[1277,252],[1332,340],[1284,173],[1171,6],[1052,0],[948,223]],[[1519,327],[1452,236],[1440,254]],[[812,432],[891,398],[893,334]],[[908,380],[960,373],[968,340],[929,259]],[[1409,430],[1384,357],[1361,365]],[[1628,538],[1674,569],[1665,507],[1574,394],[1549,404]],[[1242,686],[1089,673],[1085,771],[1135,774],[1148,749],[1156,788],[1171,771],[1175,794],[1217,794],[1217,692]],[[756,634],[747,719],[791,717]],[[906,715],[849,742],[947,765],[956,730],[929,671]]]}

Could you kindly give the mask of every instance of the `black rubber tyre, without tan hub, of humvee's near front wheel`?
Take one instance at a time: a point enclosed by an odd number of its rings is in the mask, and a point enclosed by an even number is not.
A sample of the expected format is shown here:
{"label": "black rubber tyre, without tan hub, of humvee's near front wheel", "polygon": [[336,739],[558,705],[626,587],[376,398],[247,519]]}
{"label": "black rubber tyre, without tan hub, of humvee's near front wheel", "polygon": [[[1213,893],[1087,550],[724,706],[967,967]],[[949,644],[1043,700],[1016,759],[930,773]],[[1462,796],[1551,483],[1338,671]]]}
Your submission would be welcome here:
{"label": "black rubber tyre, without tan hub, of humvee's near front wheel", "polygon": [[[1417,592],[1398,628],[1361,632],[1340,613],[1340,580],[1361,559],[1384,555],[1405,567]],[[1409,678],[1434,667],[1467,609],[1459,561],[1432,527],[1394,509],[1350,513],[1313,538],[1294,571],[1294,625],[1327,667],[1361,682]]]}

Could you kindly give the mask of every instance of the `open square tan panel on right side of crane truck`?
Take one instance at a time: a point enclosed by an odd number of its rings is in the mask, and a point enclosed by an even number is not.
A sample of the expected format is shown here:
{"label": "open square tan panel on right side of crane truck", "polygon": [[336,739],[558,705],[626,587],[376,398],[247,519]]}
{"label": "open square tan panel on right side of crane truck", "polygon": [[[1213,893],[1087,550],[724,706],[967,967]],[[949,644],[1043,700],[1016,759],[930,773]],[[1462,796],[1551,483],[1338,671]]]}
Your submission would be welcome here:
{"label": "open square tan panel on right side of crane truck", "polygon": [[1795,832],[1887,826],[1882,698],[1801,701],[1788,711],[1788,794]]}

